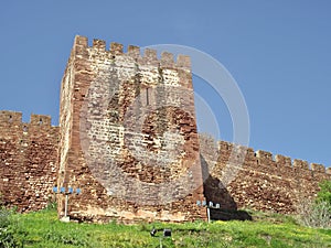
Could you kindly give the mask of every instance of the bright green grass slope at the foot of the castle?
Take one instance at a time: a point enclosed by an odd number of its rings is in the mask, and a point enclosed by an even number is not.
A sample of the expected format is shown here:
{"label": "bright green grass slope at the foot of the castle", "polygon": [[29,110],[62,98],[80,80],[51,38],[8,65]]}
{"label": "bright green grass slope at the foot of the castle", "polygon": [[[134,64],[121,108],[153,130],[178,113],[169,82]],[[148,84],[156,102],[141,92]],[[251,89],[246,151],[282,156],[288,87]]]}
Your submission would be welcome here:
{"label": "bright green grass slope at the foot of the castle", "polygon": [[[23,247],[331,247],[331,230],[296,224],[291,217],[253,213],[253,222],[185,224],[62,223],[54,209],[17,214],[15,237]],[[160,229],[151,237],[152,227]],[[171,228],[171,237],[161,229]]]}

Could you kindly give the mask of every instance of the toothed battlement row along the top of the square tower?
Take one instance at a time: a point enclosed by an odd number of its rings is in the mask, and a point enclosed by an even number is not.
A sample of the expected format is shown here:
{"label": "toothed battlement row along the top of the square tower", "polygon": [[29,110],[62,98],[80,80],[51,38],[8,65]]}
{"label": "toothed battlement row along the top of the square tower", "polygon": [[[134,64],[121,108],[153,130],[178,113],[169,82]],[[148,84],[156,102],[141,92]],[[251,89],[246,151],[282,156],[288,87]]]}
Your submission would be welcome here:
{"label": "toothed battlement row along the top of the square tower", "polygon": [[177,60],[172,53],[162,52],[160,58],[158,58],[158,52],[151,48],[145,48],[143,55],[139,46],[128,45],[127,51],[124,51],[124,45],[120,43],[111,42],[107,50],[106,41],[94,39],[92,46],[88,45],[88,39],[77,35],[74,43],[74,53],[77,56],[88,56],[88,51],[105,55],[108,58],[115,60],[116,56],[132,57],[138,64],[141,65],[154,65],[166,68],[181,68],[191,69],[190,56],[179,54]]}

